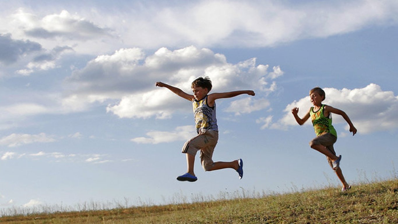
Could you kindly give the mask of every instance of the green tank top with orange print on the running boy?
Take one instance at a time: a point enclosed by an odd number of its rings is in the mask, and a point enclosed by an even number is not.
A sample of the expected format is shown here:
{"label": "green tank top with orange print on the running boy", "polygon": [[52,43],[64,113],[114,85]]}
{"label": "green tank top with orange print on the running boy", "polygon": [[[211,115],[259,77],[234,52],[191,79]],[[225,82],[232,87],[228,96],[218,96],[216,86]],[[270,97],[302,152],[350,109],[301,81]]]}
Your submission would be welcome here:
{"label": "green tank top with orange print on the running boy", "polygon": [[325,133],[330,133],[337,138],[337,132],[332,125],[332,114],[329,114],[329,117],[325,117],[324,107],[325,105],[322,104],[321,108],[316,112],[314,112],[314,107],[310,109],[310,116],[315,134],[316,136],[320,136]]}

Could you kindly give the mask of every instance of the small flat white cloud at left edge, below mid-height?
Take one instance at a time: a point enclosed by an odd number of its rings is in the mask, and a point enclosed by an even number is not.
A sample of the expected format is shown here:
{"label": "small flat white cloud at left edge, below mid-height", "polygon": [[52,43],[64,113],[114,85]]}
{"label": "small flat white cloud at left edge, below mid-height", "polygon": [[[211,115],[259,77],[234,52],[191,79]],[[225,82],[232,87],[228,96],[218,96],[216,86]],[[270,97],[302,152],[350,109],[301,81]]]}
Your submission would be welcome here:
{"label": "small flat white cloud at left edge, below mid-height", "polygon": [[31,134],[10,134],[0,138],[0,145],[7,145],[8,147],[15,147],[19,145],[26,145],[31,143],[48,143],[55,141],[54,138],[47,136],[45,133],[37,135]]}

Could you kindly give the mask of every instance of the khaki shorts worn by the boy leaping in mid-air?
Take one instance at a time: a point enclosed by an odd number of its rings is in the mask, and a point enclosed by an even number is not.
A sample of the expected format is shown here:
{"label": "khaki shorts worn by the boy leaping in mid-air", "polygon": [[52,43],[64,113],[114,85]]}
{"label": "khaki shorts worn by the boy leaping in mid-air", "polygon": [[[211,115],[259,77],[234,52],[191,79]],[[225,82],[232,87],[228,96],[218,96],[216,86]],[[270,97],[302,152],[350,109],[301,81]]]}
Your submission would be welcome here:
{"label": "khaki shorts worn by the boy leaping in mid-air", "polygon": [[200,159],[205,171],[213,168],[213,152],[219,140],[219,132],[206,130],[185,142],[182,153],[196,155],[200,150]]}

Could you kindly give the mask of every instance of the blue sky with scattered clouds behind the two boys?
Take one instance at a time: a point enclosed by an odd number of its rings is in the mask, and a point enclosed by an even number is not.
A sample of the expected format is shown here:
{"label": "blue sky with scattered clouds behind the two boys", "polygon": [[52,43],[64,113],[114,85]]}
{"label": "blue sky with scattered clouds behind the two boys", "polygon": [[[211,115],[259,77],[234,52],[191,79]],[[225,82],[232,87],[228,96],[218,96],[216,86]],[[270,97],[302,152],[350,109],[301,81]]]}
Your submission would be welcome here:
{"label": "blue sky with scattered clouds behind the two boys", "polygon": [[[336,187],[299,126],[308,92],[333,116],[348,183],[397,176],[396,0],[0,0],[0,209],[85,202],[169,204],[244,192]],[[195,136],[190,93],[209,76],[219,99],[214,161],[233,169],[185,173]],[[253,193],[254,194],[254,193]]]}

